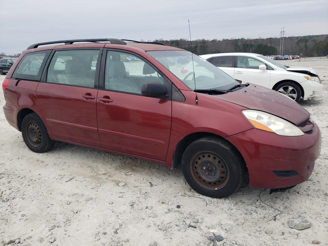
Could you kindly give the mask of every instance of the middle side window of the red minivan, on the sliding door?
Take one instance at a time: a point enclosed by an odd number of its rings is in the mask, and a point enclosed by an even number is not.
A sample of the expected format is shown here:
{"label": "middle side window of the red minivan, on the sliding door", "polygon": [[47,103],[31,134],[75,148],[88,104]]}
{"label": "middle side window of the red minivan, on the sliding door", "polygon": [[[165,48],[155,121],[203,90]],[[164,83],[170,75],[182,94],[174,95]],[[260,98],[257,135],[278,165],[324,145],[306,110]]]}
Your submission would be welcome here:
{"label": "middle side window of the red minivan, on the sliding door", "polygon": [[56,51],[49,64],[47,83],[94,87],[99,50]]}

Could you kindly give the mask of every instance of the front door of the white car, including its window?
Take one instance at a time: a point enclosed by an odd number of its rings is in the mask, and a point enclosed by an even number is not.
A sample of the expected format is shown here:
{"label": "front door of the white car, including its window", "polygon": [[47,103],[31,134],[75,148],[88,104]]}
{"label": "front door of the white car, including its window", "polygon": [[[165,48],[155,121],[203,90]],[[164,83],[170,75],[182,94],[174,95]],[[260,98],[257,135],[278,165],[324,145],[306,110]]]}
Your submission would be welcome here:
{"label": "front door of the white car, including its window", "polygon": [[237,55],[237,63],[234,78],[242,83],[252,83],[269,88],[270,70],[262,70],[258,67],[266,64],[254,57]]}

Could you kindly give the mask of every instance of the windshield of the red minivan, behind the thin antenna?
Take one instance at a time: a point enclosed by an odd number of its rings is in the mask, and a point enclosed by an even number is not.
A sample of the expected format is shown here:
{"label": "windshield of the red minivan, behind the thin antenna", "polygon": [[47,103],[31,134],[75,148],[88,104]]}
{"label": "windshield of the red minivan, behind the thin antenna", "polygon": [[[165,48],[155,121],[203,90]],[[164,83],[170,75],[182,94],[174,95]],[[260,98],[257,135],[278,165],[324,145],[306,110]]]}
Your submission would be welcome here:
{"label": "windshield of the red minivan, behind the thin antenna", "polygon": [[228,90],[239,85],[228,74],[189,51],[147,51],[147,53],[192,91]]}

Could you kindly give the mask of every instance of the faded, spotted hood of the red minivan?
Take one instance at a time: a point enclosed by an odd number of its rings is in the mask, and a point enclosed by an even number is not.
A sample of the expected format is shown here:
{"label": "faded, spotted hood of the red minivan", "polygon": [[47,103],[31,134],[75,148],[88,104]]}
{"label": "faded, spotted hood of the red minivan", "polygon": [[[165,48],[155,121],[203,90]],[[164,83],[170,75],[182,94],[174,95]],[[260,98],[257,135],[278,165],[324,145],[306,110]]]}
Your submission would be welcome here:
{"label": "faded, spotted hood of the red minivan", "polygon": [[221,95],[213,95],[221,100],[242,107],[274,114],[298,125],[310,117],[302,106],[279,92],[250,84],[246,88]]}

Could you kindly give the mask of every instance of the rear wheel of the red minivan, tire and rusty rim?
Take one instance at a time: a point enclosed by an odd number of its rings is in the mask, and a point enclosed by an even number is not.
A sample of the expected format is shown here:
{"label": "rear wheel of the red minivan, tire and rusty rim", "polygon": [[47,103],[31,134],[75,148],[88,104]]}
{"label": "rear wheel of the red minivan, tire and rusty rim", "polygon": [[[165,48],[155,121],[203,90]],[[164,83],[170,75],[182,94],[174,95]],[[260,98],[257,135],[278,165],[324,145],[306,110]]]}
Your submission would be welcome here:
{"label": "rear wheel of the red minivan, tire and rusty rim", "polygon": [[24,117],[22,136],[26,146],[36,153],[49,151],[55,143],[50,139],[47,128],[36,113],[30,113]]}

